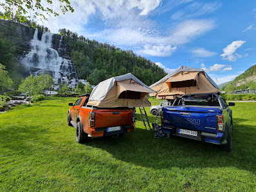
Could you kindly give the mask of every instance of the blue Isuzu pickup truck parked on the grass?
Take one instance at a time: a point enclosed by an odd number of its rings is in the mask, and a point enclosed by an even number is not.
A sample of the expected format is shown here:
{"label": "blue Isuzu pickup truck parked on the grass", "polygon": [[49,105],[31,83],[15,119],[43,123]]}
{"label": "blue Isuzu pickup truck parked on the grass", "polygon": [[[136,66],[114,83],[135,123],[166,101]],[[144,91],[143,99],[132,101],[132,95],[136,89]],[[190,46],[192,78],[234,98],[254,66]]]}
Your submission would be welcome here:
{"label": "blue Isuzu pickup truck parked on the grass", "polygon": [[162,108],[164,133],[221,144],[231,151],[232,110],[225,99],[214,93],[183,95],[173,106]]}

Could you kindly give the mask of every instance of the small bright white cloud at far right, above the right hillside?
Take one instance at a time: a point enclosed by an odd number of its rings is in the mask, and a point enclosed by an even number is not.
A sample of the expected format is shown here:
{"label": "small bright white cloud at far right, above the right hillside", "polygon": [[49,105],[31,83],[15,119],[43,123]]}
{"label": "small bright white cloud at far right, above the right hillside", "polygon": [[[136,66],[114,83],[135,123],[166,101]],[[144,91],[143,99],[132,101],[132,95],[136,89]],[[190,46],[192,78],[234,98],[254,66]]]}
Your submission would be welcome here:
{"label": "small bright white cloud at far right, above the right hillside", "polygon": [[235,53],[237,48],[241,47],[244,43],[246,43],[246,41],[233,41],[231,44],[223,49],[224,53],[221,54],[222,59],[226,59],[228,61],[236,61],[237,57],[241,57],[242,55],[239,55],[237,53],[236,55],[233,55],[233,53]]}

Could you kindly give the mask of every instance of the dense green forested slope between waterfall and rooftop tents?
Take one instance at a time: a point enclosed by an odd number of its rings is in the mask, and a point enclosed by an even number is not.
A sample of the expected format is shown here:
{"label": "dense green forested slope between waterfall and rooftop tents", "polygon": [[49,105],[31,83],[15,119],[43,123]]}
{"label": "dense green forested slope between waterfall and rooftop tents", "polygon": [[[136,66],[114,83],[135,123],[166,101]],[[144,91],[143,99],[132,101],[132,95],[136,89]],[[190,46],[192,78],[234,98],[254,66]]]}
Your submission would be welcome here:
{"label": "dense green forested slope between waterfall and rooftop tents", "polygon": [[154,62],[136,55],[132,50],[121,50],[83,36],[77,38],[77,34],[72,32],[70,36],[65,36],[65,41],[72,50],[71,58],[79,78],[91,84],[130,72],[145,84],[151,85],[166,75]]}

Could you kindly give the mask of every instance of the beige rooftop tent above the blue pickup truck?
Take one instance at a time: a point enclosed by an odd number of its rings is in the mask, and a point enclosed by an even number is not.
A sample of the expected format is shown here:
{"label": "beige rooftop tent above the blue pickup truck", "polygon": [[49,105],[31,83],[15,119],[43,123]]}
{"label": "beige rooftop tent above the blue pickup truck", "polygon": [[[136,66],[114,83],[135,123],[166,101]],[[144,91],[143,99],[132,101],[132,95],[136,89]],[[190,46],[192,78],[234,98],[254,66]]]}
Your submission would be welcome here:
{"label": "beige rooftop tent above the blue pickup truck", "polygon": [[163,77],[150,86],[157,93],[150,93],[150,97],[157,99],[175,99],[184,94],[192,93],[218,93],[219,87],[199,68],[180,66],[175,72]]}

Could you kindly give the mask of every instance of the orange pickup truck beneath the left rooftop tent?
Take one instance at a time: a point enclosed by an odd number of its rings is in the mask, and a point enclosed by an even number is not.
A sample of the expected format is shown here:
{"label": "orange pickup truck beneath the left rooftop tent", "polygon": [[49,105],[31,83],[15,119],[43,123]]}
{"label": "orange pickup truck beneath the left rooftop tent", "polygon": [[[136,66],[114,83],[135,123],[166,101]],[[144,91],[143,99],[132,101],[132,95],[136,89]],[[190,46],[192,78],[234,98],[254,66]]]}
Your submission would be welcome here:
{"label": "orange pickup truck beneath the left rooftop tent", "polygon": [[123,135],[134,131],[135,111],[130,108],[96,108],[88,106],[90,95],[80,97],[68,110],[68,125],[74,126],[78,143],[90,137]]}

